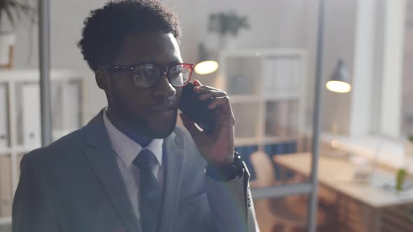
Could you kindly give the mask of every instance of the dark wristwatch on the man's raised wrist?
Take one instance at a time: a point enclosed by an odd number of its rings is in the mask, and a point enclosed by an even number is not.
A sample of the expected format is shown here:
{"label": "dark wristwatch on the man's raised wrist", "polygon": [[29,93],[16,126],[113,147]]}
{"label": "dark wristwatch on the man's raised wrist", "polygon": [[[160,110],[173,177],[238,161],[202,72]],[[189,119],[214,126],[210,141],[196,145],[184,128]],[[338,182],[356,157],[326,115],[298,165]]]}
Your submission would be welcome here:
{"label": "dark wristwatch on the man's raised wrist", "polygon": [[238,152],[234,152],[234,161],[232,163],[219,167],[207,165],[205,173],[208,177],[218,181],[235,180],[235,178],[244,175],[244,162]]}

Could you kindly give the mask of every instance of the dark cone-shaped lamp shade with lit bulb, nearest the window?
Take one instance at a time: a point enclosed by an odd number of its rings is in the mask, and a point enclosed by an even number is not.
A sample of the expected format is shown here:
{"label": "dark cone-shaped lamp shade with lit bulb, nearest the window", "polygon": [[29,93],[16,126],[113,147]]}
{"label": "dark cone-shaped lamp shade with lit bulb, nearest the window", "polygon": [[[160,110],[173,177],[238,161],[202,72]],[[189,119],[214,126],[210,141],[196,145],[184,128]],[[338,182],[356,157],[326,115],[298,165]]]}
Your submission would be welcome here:
{"label": "dark cone-shaped lamp shade with lit bulb, nearest the window", "polygon": [[351,91],[349,71],[347,71],[344,61],[339,59],[334,73],[332,73],[330,80],[325,83],[325,87],[332,92],[348,93]]}

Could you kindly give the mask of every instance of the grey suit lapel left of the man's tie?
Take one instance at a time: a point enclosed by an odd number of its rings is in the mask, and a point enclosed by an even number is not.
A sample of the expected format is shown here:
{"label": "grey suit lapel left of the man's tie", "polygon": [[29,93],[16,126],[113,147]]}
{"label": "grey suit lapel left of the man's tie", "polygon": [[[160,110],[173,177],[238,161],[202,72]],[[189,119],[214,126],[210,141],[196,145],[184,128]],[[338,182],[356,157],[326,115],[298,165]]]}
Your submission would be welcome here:
{"label": "grey suit lapel left of the man's tie", "polygon": [[116,154],[104,127],[102,114],[103,110],[85,128],[85,156],[127,229],[130,232],[141,231],[118,169]]}

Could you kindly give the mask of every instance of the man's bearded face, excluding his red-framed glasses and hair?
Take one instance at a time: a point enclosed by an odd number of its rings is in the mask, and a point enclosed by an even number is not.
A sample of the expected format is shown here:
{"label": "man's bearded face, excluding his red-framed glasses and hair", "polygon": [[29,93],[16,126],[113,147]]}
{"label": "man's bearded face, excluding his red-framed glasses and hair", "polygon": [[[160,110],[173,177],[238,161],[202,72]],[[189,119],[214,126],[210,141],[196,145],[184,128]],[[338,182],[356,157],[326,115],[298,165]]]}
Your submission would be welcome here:
{"label": "man's bearded face, excluding his red-framed glasses and hair", "polygon": [[[182,62],[179,45],[172,34],[148,33],[126,36],[123,48],[113,62],[130,66],[151,62],[169,66]],[[107,74],[106,74],[107,75]],[[173,87],[162,75],[155,87],[138,89],[129,72],[110,73],[106,96],[109,108],[124,125],[149,138],[165,138],[175,128],[181,88]]]}

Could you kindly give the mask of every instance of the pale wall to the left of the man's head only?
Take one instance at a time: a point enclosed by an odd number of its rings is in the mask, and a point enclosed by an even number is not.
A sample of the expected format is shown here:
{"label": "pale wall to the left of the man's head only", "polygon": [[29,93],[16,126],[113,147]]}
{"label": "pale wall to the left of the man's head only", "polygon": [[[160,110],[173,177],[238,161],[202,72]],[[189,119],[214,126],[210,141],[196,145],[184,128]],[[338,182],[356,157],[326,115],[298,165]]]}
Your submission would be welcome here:
{"label": "pale wall to the left of the man's head only", "polygon": [[[89,106],[90,117],[97,113],[106,101],[104,94],[94,84],[94,75],[87,67],[80,50],[77,48],[77,41],[80,39],[80,31],[83,20],[89,10],[101,6],[102,0],[89,1],[50,1],[50,40],[51,40],[51,66],[52,68],[74,69],[81,75],[90,79],[89,84]],[[15,66],[16,68],[37,68],[38,67],[38,34],[34,30],[33,36],[28,36],[25,25],[18,27],[18,41],[16,45]],[[27,51],[29,45],[34,45],[34,54],[27,62]]]}

